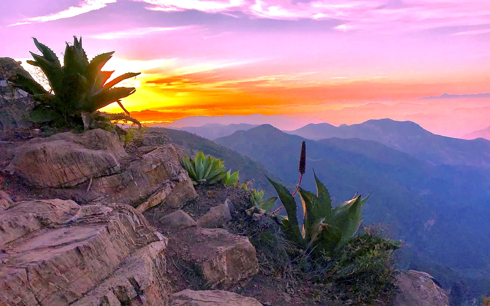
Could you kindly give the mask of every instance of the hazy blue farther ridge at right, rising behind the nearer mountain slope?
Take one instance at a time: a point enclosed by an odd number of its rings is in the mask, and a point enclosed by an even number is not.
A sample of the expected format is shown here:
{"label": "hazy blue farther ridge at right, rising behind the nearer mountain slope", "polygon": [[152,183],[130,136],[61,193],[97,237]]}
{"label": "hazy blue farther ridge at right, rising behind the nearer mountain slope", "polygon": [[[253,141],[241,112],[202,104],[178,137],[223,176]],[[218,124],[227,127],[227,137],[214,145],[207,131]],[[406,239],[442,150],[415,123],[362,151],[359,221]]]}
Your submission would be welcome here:
{"label": "hazy blue farther ridge at right, rising behind the nearer mountain slope", "polygon": [[359,138],[378,141],[434,165],[490,167],[490,141],[463,140],[433,134],[412,121],[371,119],[359,124],[308,124],[288,134],[306,139]]}

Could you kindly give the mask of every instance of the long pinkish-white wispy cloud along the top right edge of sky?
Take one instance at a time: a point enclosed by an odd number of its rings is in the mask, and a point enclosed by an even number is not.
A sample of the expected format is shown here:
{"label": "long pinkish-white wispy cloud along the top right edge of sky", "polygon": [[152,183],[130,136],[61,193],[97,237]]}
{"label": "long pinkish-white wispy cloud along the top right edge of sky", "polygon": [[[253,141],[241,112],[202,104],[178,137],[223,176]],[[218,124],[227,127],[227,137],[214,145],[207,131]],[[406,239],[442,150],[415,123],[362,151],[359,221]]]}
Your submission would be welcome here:
{"label": "long pinkish-white wispy cloud along the top right edge of sky", "polygon": [[[278,20],[336,20],[339,31],[417,31],[490,24],[488,0],[133,0],[160,11],[242,12]],[[388,3],[388,4],[387,4]],[[463,34],[462,34],[463,35]]]}

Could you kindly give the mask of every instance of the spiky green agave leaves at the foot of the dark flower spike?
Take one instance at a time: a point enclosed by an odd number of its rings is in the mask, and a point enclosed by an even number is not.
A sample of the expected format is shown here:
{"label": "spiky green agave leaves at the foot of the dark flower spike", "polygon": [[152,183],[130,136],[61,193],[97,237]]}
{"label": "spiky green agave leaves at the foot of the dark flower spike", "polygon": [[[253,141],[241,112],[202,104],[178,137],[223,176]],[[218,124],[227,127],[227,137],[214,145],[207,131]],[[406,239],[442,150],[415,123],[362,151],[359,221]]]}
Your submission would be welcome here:
{"label": "spiky green agave leaves at the foot of the dark flower spike", "polygon": [[354,196],[332,209],[327,188],[319,181],[314,172],[317,194],[297,186],[303,207],[303,226],[300,230],[297,221],[297,205],[294,197],[284,186],[269,181],[277,191],[287,216],[281,218],[282,229],[287,237],[305,249],[314,250],[314,254],[330,254],[352,237],[362,220],[362,209],[369,195],[362,199]]}

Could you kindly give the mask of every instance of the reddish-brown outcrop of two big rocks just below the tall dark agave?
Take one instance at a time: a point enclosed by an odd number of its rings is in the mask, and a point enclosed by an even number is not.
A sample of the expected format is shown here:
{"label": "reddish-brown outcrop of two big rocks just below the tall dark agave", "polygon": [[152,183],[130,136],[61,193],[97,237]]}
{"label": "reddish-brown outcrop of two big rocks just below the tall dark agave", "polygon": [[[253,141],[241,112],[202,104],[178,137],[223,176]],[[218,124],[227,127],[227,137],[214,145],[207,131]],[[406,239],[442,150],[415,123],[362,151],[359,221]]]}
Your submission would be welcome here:
{"label": "reddish-brown outcrop of two big rocks just below the tall dark agave", "polygon": [[12,149],[15,157],[2,172],[82,204],[125,203],[138,212],[162,202],[177,207],[197,194],[180,164],[183,151],[163,144],[164,134],[144,137],[145,144],[156,144],[132,155],[117,135],[101,129],[34,138]]}

